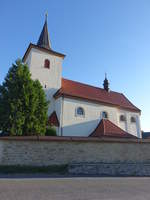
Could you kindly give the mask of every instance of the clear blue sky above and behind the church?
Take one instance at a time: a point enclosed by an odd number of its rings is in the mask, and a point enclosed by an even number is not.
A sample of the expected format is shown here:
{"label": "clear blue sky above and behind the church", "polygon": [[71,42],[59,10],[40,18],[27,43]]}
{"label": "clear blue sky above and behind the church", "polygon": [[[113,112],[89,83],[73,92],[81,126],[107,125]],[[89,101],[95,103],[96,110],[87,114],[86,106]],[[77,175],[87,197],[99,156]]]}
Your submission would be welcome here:
{"label": "clear blue sky above and behind the church", "polygon": [[149,0],[0,0],[0,83],[29,43],[45,12],[52,48],[66,54],[63,77],[124,93],[150,131]]}

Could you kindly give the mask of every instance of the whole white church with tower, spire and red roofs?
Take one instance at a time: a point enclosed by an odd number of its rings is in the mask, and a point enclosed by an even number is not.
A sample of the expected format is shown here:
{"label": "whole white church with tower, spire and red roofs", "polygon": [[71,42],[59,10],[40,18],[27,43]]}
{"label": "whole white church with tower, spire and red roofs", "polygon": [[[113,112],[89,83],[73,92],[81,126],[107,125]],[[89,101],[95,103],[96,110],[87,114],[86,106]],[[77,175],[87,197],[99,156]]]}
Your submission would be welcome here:
{"label": "whole white church with tower, spire and red roofs", "polygon": [[52,50],[46,19],[38,43],[29,45],[23,62],[45,90],[49,123],[57,127],[57,135],[87,137],[103,131],[109,136],[114,128],[119,134],[140,138],[140,109],[123,94],[111,91],[107,77],[103,88],[62,78],[64,58]]}

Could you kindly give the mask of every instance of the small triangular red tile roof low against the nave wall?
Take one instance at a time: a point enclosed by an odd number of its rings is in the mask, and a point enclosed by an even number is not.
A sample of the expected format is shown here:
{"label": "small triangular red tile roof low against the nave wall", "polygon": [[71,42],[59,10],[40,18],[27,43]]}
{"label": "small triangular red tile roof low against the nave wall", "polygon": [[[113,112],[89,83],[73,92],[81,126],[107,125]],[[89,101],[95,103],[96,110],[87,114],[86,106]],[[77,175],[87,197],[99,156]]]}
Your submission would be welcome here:
{"label": "small triangular red tile roof low against the nave wall", "polygon": [[89,137],[123,137],[123,138],[136,138],[135,136],[122,130],[108,119],[102,119],[96,129]]}

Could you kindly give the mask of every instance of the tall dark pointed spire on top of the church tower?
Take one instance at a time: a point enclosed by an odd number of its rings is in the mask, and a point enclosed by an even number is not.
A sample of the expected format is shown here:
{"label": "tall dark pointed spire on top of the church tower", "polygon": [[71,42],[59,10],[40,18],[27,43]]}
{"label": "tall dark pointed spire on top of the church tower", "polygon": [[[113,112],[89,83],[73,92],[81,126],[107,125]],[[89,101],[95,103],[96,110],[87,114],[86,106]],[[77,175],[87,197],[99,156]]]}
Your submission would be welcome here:
{"label": "tall dark pointed spire on top of the church tower", "polygon": [[44,47],[46,49],[51,49],[51,43],[49,39],[49,33],[48,33],[48,26],[47,26],[47,16],[48,14],[45,14],[45,23],[42,29],[42,32],[40,34],[39,40],[37,42],[37,45],[40,47]]}

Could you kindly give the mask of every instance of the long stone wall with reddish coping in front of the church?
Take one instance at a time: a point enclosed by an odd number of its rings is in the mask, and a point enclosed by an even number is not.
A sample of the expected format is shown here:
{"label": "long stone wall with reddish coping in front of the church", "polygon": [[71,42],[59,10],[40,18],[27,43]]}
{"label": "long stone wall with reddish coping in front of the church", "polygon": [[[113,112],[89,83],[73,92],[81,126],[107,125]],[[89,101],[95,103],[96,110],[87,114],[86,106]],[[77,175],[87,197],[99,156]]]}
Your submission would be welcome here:
{"label": "long stone wall with reddish coping in front of the church", "polygon": [[149,163],[150,140],[71,137],[0,138],[0,165]]}

